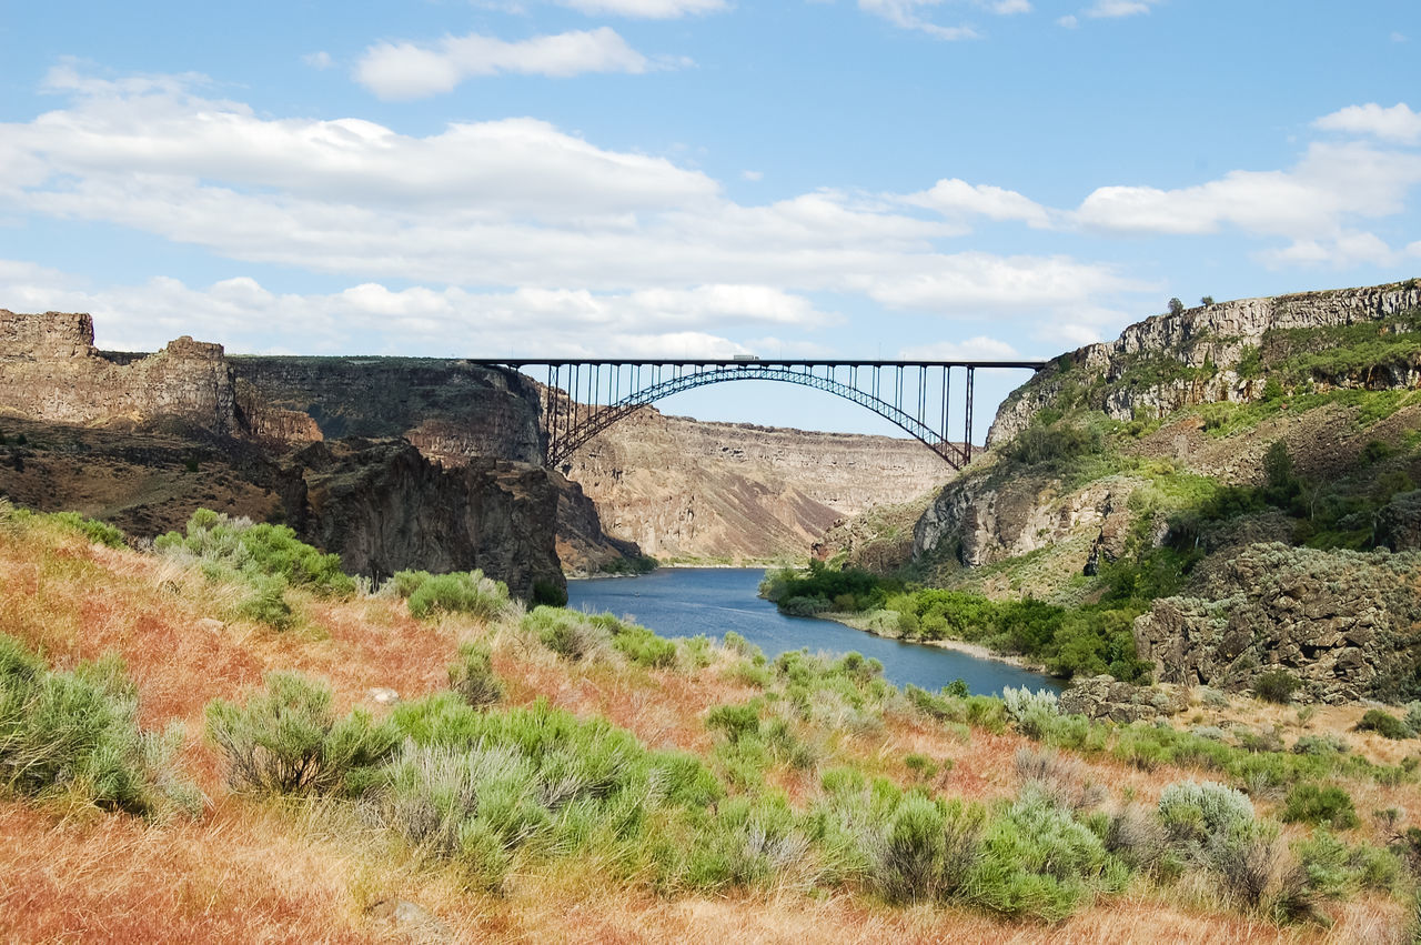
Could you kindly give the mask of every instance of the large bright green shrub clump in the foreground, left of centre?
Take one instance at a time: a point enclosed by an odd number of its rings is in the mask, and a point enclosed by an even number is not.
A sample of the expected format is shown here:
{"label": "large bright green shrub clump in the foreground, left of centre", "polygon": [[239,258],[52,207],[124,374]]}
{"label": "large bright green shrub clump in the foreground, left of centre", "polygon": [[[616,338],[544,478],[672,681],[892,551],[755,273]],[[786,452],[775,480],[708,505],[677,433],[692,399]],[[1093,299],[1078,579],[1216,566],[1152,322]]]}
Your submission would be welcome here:
{"label": "large bright green shrub clump in the foreground, left of centre", "polygon": [[695,874],[686,860],[718,843],[710,772],[689,755],[651,752],[605,719],[581,720],[543,699],[477,711],[438,693],[398,706],[394,722],[406,740],[375,794],[384,821],[490,887],[530,847],[598,850],[628,873],[655,860],[679,884]]}

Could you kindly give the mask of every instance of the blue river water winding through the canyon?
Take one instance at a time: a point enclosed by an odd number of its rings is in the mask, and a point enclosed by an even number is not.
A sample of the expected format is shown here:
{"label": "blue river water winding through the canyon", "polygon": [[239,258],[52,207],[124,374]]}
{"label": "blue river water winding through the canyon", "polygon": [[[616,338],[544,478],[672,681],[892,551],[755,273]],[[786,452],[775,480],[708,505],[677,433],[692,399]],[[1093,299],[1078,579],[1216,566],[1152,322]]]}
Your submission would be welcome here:
{"label": "blue river water winding through the canyon", "polygon": [[790,649],[872,657],[884,665],[884,678],[936,692],[953,679],[965,679],[972,692],[998,693],[1002,686],[1059,691],[1050,676],[1017,669],[996,659],[905,644],[874,637],[843,624],[786,617],[774,604],[756,595],[760,568],[659,568],[642,577],[594,578],[567,583],[567,605],[588,612],[610,611],[630,617],[662,637],[720,639],[735,631],[772,659]]}

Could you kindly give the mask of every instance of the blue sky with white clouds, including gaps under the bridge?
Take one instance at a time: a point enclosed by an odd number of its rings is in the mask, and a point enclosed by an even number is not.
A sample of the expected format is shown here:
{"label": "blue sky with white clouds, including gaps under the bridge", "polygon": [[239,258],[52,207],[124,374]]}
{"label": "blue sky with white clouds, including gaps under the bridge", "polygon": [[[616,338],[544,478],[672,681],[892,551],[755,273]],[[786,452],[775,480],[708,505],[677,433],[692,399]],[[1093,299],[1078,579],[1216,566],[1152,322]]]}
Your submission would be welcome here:
{"label": "blue sky with white clouds, including gaps under the bridge", "polygon": [[105,348],[1049,358],[1418,274],[1417,0],[0,0],[0,307]]}

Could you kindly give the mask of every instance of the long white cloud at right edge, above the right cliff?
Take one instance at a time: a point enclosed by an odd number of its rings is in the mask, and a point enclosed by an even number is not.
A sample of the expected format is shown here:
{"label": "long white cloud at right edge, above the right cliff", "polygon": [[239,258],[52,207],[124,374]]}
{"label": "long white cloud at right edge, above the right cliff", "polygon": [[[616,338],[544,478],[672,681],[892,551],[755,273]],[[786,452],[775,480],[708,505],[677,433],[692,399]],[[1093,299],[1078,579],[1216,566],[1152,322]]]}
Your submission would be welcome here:
{"label": "long white cloud at right edge, above the right cliff", "polygon": [[1232,171],[1218,180],[1161,190],[1107,186],[1076,212],[1079,223],[1121,233],[1249,233],[1312,237],[1336,232],[1350,217],[1403,210],[1421,182],[1421,155],[1363,144],[1314,144],[1290,171]]}

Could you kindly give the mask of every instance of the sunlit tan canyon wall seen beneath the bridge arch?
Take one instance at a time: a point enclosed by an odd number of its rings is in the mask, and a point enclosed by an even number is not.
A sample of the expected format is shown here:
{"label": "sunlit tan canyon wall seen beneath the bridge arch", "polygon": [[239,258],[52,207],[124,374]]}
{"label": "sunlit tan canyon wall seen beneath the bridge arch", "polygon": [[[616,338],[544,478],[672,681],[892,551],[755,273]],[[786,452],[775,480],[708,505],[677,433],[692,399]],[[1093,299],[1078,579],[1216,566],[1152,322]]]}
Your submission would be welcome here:
{"label": "sunlit tan canyon wall seen beneath the bridge arch", "polygon": [[837,520],[901,503],[953,470],[917,441],[706,423],[642,409],[566,470],[608,534],[658,558],[804,556]]}

